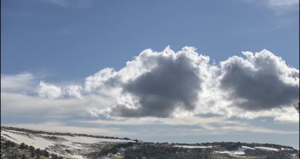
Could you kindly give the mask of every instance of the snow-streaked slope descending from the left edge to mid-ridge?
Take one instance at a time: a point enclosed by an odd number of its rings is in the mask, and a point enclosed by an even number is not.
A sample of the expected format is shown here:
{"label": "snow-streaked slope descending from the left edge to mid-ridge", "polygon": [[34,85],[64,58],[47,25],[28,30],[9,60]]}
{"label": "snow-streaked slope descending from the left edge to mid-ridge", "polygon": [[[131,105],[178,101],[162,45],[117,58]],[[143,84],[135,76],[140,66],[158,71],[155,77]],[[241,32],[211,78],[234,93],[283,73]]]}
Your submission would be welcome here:
{"label": "snow-streaked slope descending from the left edge to mid-ridge", "polygon": [[12,130],[9,127],[1,126],[1,137],[7,140],[17,144],[25,143],[35,148],[47,149],[51,153],[70,158],[85,158],[84,156],[89,153],[97,151],[97,148],[108,144],[135,142],[132,140],[88,137],[70,133],[49,135],[49,132],[45,131],[39,131],[40,133],[31,132],[19,129]]}

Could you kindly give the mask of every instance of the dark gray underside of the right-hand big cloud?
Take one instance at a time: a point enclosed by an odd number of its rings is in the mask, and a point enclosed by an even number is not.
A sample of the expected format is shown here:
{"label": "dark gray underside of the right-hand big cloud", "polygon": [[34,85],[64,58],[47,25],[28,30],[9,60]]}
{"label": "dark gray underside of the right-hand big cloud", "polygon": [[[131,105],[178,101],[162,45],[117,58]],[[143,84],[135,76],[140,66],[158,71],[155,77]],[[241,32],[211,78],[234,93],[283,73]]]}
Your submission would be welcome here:
{"label": "dark gray underside of the right-hand big cloud", "polygon": [[[233,105],[244,110],[266,110],[280,105],[292,105],[299,98],[299,88],[280,80],[278,72],[254,70],[239,63],[226,67],[220,82],[228,92],[228,98],[234,100]],[[275,68],[274,68],[275,69]]]}

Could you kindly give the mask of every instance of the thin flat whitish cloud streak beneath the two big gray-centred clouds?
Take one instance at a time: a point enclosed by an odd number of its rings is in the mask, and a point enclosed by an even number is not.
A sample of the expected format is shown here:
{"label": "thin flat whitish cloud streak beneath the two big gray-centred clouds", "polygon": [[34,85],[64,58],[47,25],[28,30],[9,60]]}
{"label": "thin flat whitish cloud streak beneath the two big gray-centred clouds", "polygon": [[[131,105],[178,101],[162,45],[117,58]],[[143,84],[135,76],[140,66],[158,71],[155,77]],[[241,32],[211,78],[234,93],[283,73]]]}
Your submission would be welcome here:
{"label": "thin flat whitish cloud streak beneath the two big gray-centred clouds", "polygon": [[[75,121],[76,122],[76,121]],[[226,117],[182,117],[182,118],[154,118],[154,117],[144,117],[144,118],[123,118],[119,120],[80,120],[79,123],[85,123],[90,125],[164,125],[169,126],[168,129],[174,127],[181,128],[174,130],[177,133],[172,135],[179,135],[184,133],[186,135],[199,135],[200,134],[231,134],[233,131],[237,133],[241,132],[253,132],[253,133],[266,133],[266,134],[298,134],[298,131],[287,131],[280,130],[278,127],[259,127],[254,126],[249,123],[243,123],[241,121],[228,120]],[[183,129],[186,127],[188,129]],[[163,130],[165,131],[165,130]],[[170,131],[170,130],[168,130]],[[158,133],[158,132],[156,132]],[[164,132],[165,133],[165,132]]]}

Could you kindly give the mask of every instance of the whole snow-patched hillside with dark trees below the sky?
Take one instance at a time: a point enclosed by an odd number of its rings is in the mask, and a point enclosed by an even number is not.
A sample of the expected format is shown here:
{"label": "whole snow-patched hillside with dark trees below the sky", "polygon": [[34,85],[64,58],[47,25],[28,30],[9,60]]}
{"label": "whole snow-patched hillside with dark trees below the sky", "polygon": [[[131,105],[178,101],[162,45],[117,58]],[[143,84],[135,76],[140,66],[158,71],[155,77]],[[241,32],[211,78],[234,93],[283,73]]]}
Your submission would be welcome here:
{"label": "whole snow-patched hillside with dark trees below the sky", "polygon": [[[23,143],[23,144],[22,144]],[[27,149],[22,145],[27,145]],[[35,150],[30,150],[33,146]],[[40,149],[40,150],[37,150]],[[215,142],[149,143],[128,138],[37,131],[1,126],[1,158],[299,158],[299,150],[276,144]],[[45,152],[49,152],[49,156]],[[52,156],[53,155],[53,156]],[[56,155],[56,156],[55,156]],[[36,158],[35,156],[34,158]]]}

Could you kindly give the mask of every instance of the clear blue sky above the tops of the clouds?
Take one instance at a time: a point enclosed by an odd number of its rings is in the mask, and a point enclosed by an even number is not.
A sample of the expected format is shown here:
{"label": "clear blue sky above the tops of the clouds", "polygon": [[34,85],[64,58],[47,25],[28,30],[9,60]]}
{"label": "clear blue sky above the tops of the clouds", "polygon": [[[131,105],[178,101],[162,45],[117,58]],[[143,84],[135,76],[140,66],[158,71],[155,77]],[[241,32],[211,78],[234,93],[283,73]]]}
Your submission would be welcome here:
{"label": "clear blue sky above the tops of the clouds", "polygon": [[216,62],[265,48],[299,67],[295,8],[247,1],[91,1],[83,8],[50,2],[2,2],[2,73],[42,70],[52,80],[80,80],[167,45],[194,46]]}

